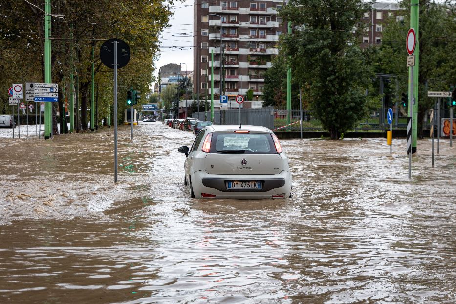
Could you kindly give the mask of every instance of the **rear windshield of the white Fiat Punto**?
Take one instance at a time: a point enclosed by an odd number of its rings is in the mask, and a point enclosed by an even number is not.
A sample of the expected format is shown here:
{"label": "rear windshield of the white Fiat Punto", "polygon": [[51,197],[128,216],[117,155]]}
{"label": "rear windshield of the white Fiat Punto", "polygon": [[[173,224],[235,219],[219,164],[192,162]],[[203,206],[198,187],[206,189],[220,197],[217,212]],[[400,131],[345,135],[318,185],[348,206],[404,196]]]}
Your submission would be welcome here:
{"label": "rear windshield of the white Fiat Punto", "polygon": [[271,134],[267,133],[213,133],[211,142],[211,153],[277,153]]}

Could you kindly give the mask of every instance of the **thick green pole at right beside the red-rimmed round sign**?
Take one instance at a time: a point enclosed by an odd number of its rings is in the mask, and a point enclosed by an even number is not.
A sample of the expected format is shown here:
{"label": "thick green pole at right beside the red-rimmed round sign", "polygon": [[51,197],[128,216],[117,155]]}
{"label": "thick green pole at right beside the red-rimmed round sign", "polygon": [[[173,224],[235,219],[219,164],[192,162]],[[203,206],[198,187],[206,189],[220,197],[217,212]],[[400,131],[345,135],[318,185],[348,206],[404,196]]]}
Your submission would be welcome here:
{"label": "thick green pole at right beside the red-rimmed round sign", "polygon": [[412,105],[412,154],[416,153],[416,142],[418,134],[418,70],[419,70],[419,0],[411,0],[410,2],[410,27],[415,30],[416,45],[415,45],[415,66],[409,67],[409,82],[413,71],[413,96],[415,104]]}

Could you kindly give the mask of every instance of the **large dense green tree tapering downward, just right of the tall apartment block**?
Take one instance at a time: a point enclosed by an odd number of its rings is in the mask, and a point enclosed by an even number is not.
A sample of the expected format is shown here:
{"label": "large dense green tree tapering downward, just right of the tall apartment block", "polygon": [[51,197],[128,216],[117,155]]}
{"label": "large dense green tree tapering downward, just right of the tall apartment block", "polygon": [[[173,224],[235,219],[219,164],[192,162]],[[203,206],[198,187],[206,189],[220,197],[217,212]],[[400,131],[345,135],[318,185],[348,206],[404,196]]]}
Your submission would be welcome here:
{"label": "large dense green tree tapering downward, just right of the tall apartment block", "polygon": [[293,75],[331,139],[367,114],[373,73],[353,33],[366,11],[362,0],[291,0],[280,13],[295,28],[282,41]]}

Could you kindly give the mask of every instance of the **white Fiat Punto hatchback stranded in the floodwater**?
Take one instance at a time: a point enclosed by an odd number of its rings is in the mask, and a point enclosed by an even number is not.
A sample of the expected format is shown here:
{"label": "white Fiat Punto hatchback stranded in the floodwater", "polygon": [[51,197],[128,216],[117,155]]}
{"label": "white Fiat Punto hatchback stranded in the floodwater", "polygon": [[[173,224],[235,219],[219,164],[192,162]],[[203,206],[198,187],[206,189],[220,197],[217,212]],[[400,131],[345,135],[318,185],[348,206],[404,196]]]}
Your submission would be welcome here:
{"label": "white Fiat Punto hatchback stranded in the floodwater", "polygon": [[260,126],[211,125],[185,153],[184,184],[197,198],[291,197],[288,158],[276,135]]}

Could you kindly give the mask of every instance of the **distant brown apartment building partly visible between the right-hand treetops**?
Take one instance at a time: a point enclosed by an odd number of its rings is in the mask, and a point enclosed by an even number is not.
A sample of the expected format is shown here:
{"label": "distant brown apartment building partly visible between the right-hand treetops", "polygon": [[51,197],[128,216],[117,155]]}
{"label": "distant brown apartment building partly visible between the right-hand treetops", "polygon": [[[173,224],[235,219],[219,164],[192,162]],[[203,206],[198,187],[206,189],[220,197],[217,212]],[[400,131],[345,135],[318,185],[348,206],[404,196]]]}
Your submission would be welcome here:
{"label": "distant brown apartment building partly visible between the right-hand treetops", "polygon": [[379,2],[373,3],[372,9],[365,12],[363,22],[365,23],[364,33],[360,42],[361,47],[379,45],[382,43],[383,31],[388,26],[388,21],[391,18],[395,20],[403,20],[401,16],[399,3],[396,2]]}

